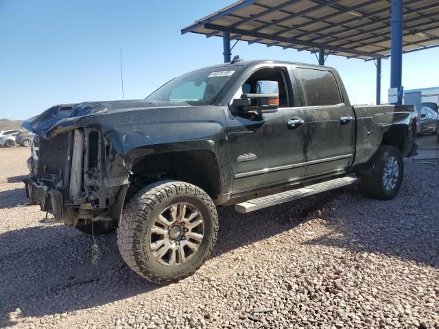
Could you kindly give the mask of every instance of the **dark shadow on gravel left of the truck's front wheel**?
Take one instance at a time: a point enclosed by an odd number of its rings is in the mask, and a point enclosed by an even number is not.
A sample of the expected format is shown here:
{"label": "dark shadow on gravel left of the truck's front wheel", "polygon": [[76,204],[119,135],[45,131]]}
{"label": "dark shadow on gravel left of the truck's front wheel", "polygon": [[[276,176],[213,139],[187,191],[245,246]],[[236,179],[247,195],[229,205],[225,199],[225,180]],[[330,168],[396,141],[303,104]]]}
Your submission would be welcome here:
{"label": "dark shadow on gravel left of the truck's front wheel", "polygon": [[[159,287],[123,263],[115,233],[95,239],[96,256],[91,236],[62,224],[0,234],[0,328],[22,317],[90,308]],[[11,314],[16,308],[17,317]]]}

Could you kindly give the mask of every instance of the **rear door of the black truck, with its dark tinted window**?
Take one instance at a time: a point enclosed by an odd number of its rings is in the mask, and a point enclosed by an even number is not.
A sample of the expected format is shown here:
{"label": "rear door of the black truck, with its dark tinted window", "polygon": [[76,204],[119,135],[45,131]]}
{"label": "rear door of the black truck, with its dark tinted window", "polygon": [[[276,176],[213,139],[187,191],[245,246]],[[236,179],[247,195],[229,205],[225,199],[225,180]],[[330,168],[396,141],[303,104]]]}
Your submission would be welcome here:
{"label": "rear door of the black truck, with its dark tinted window", "polygon": [[344,101],[337,73],[296,66],[294,74],[305,112],[305,175],[346,171],[355,152],[355,116]]}

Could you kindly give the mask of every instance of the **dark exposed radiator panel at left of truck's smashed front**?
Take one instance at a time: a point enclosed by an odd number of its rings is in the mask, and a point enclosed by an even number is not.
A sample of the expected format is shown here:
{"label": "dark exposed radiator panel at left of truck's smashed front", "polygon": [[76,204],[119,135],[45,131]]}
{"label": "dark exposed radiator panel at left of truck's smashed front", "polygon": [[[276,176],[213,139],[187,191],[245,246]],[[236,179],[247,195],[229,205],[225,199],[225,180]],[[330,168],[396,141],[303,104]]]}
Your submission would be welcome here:
{"label": "dark exposed radiator panel at left of truck's smashed front", "polygon": [[39,138],[38,178],[58,184],[69,184],[73,133],[59,134],[54,138]]}

